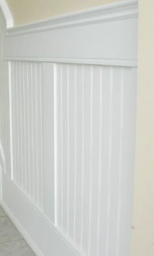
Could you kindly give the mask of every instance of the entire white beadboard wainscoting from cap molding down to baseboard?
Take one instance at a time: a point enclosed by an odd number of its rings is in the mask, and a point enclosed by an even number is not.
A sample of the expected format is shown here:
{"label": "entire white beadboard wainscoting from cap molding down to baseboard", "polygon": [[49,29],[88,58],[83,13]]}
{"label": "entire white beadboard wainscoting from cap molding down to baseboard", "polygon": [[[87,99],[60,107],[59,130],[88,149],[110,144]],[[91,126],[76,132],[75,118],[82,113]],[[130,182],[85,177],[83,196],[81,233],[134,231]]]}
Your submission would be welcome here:
{"label": "entire white beadboard wainscoting from cap molding down to baseboard", "polygon": [[129,256],[138,3],[1,28],[1,205],[37,255]]}

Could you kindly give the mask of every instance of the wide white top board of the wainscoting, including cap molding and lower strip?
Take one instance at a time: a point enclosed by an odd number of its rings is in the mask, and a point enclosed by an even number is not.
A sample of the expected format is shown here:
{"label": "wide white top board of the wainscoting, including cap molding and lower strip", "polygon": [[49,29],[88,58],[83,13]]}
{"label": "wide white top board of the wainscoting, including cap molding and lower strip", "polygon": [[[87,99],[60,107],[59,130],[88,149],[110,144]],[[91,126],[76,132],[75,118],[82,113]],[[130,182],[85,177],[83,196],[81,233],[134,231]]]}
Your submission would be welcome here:
{"label": "wide white top board of the wainscoting, including cap molding and lower strip", "polygon": [[136,67],[137,20],[138,2],[127,0],[14,27],[3,57]]}

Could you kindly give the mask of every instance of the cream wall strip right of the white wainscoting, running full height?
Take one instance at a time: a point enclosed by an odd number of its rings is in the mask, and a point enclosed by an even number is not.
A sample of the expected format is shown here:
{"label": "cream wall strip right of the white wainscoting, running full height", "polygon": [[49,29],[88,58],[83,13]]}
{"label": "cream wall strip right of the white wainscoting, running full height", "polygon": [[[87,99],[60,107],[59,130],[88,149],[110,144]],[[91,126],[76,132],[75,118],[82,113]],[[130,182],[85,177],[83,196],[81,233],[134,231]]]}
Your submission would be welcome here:
{"label": "cream wall strip right of the white wainscoting, running full height", "polygon": [[154,1],[139,1],[136,170],[132,256],[154,255]]}

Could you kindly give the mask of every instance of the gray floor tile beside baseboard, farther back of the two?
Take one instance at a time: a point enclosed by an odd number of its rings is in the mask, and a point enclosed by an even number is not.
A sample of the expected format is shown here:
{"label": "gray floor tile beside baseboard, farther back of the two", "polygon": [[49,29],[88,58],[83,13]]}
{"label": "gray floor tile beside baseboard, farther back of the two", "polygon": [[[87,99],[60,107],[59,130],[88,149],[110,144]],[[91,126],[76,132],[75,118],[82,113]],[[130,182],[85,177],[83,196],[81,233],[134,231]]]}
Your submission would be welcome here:
{"label": "gray floor tile beside baseboard, farther back of the two", "polygon": [[22,236],[8,217],[0,217],[0,242],[20,240]]}

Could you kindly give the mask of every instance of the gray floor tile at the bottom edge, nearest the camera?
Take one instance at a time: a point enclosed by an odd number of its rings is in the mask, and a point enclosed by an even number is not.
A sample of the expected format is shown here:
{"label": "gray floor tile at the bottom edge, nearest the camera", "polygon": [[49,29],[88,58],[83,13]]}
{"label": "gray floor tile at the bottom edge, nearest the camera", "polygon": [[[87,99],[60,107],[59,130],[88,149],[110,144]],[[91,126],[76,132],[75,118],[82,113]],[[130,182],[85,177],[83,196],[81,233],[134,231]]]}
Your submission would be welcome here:
{"label": "gray floor tile at the bottom edge, nearest the camera", "polygon": [[35,256],[25,240],[0,244],[0,256]]}

